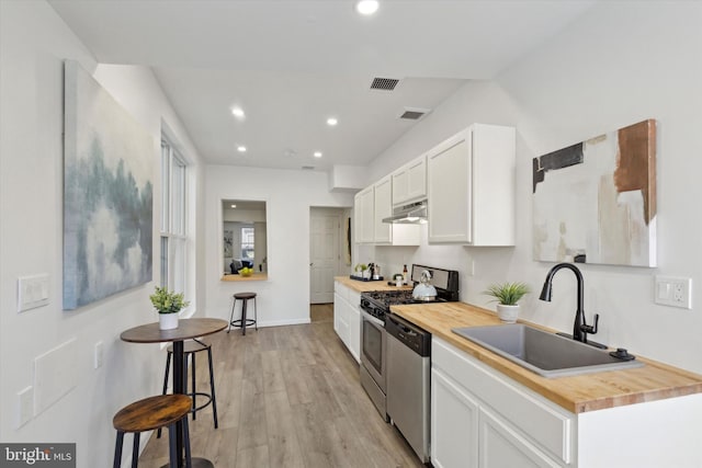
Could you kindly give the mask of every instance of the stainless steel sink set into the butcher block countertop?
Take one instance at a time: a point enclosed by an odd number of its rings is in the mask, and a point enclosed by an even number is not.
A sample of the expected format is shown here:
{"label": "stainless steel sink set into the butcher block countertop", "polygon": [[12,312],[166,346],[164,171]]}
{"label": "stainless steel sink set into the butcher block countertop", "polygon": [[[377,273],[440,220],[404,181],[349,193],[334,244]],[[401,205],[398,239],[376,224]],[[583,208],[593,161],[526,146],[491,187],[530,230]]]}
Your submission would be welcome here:
{"label": "stainless steel sink set into the butcher block countertop", "polygon": [[636,359],[622,361],[608,351],[522,323],[455,328],[452,331],[548,378],[644,365]]}

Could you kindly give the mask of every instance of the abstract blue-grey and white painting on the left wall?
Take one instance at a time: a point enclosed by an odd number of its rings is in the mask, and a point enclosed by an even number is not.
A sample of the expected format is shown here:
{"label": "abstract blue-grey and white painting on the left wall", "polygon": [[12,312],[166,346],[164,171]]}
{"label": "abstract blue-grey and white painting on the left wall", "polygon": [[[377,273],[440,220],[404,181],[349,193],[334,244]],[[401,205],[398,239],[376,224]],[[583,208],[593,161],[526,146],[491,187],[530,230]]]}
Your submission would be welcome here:
{"label": "abstract blue-grey and white painting on the left wall", "polygon": [[151,281],[158,141],[76,61],[65,64],[64,309]]}

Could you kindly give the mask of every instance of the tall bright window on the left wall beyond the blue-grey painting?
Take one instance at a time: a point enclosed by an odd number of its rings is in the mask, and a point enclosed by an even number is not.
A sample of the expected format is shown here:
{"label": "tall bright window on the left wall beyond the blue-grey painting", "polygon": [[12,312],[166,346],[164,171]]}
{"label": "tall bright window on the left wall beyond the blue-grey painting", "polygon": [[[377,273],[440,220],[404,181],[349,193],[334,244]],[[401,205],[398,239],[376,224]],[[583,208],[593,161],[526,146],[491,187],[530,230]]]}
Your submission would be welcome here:
{"label": "tall bright window on the left wall beyond the blue-grey painting", "polygon": [[185,229],[186,164],[167,139],[161,140],[161,286],[185,292],[188,232]]}

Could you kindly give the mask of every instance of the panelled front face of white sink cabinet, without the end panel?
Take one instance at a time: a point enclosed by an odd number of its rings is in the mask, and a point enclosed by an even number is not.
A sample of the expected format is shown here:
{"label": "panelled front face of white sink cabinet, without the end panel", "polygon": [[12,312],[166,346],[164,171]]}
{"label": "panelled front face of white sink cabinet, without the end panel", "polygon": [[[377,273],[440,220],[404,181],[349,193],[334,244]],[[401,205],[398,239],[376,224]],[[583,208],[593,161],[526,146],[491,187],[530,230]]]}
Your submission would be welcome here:
{"label": "panelled front face of white sink cabinet, without the end panel", "polygon": [[568,466],[575,415],[539,401],[473,361],[451,344],[432,340],[433,466]]}

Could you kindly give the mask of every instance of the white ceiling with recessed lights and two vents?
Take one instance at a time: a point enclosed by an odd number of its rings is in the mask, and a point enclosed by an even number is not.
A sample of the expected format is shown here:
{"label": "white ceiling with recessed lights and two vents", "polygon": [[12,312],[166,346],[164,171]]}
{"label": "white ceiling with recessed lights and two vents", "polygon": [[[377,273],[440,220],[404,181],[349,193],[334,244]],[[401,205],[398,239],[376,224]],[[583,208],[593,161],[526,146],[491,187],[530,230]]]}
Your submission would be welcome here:
{"label": "white ceiling with recessed lights and two vents", "polygon": [[595,3],[385,0],[366,18],[352,0],[48,1],[99,62],[151,67],[207,163],[315,170],[367,164],[417,125],[406,107],[495,77]]}

